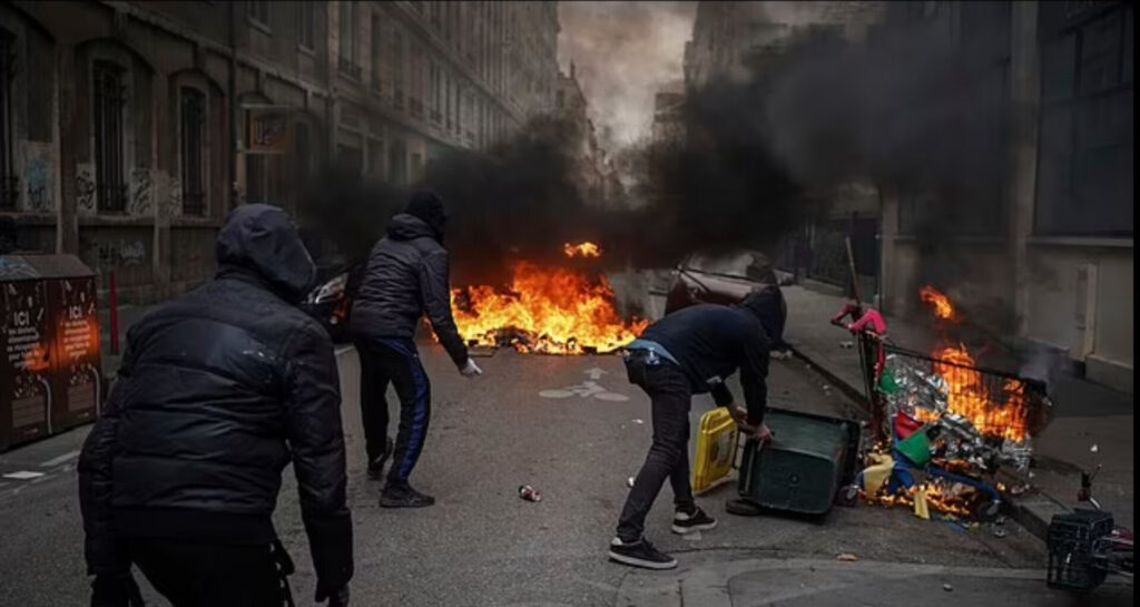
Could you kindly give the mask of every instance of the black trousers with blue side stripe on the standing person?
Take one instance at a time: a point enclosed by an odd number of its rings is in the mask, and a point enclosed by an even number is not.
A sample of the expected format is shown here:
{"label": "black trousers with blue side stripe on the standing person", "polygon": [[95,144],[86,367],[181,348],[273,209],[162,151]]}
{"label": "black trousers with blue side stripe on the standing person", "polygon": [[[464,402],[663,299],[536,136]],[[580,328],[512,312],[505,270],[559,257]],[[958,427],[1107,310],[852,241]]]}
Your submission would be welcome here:
{"label": "black trousers with blue side stripe on the standing person", "polygon": [[420,460],[431,421],[431,382],[410,339],[356,341],[360,355],[360,420],[368,462],[383,455],[388,442],[388,385],[400,399],[400,427],[389,483],[407,483]]}

